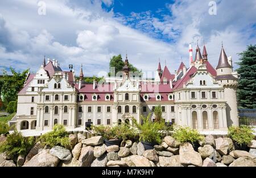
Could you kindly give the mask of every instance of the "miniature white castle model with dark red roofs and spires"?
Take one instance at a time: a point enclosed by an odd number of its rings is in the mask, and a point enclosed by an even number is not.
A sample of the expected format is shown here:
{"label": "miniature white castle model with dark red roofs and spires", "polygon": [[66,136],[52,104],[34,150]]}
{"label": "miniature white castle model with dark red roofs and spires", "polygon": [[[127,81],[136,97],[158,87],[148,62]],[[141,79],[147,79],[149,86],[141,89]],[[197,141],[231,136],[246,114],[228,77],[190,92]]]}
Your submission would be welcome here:
{"label": "miniature white castle model with dark red roofs and spires", "polygon": [[[238,125],[237,74],[232,58],[222,46],[216,69],[208,61],[207,49],[201,55],[197,44],[195,60],[189,50],[189,68],[183,62],[175,74],[160,62],[154,80],[130,76],[126,55],[122,77],[105,83],[84,83],[84,73],[76,81],[72,66],[61,70],[57,60],[44,58],[36,74],[28,74],[18,94],[16,128],[51,130],[55,124],[67,128],[138,122],[161,105],[163,118],[200,131],[227,130]],[[154,121],[154,115],[151,116]]]}

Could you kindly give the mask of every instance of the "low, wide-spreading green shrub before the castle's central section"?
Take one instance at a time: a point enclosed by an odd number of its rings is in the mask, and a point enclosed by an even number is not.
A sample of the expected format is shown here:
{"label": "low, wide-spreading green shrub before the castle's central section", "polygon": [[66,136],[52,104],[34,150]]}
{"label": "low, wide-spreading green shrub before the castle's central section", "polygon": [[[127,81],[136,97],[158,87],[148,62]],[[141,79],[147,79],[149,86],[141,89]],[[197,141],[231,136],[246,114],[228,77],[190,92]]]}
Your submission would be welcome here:
{"label": "low, wide-spreading green shrub before the castle's central section", "polygon": [[121,124],[116,126],[92,125],[92,131],[102,135],[104,139],[130,139],[135,137],[134,129],[127,125]]}

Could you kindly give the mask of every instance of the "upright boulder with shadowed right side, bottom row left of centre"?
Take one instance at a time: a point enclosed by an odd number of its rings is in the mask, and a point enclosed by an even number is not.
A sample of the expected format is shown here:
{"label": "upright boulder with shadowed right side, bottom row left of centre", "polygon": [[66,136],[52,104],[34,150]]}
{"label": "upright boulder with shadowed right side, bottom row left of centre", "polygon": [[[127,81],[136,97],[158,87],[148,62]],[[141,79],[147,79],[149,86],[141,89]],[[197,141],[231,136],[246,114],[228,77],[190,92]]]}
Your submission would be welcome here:
{"label": "upright boulder with shadowed right side, bottom row left of centre", "polygon": [[93,147],[92,146],[86,146],[82,147],[80,156],[79,156],[79,166],[80,167],[89,167],[90,164],[92,164],[94,160],[93,156]]}

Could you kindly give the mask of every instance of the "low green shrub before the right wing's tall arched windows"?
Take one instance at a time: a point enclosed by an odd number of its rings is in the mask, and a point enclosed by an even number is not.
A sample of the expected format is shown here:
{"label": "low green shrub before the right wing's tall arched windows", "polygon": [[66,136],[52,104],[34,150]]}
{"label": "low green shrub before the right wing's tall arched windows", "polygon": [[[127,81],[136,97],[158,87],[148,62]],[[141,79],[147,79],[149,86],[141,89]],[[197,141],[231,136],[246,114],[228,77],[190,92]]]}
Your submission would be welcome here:
{"label": "low green shrub before the right wing's tall arched windows", "polygon": [[204,139],[197,130],[188,127],[176,129],[172,136],[181,143],[189,142],[192,145]]}

